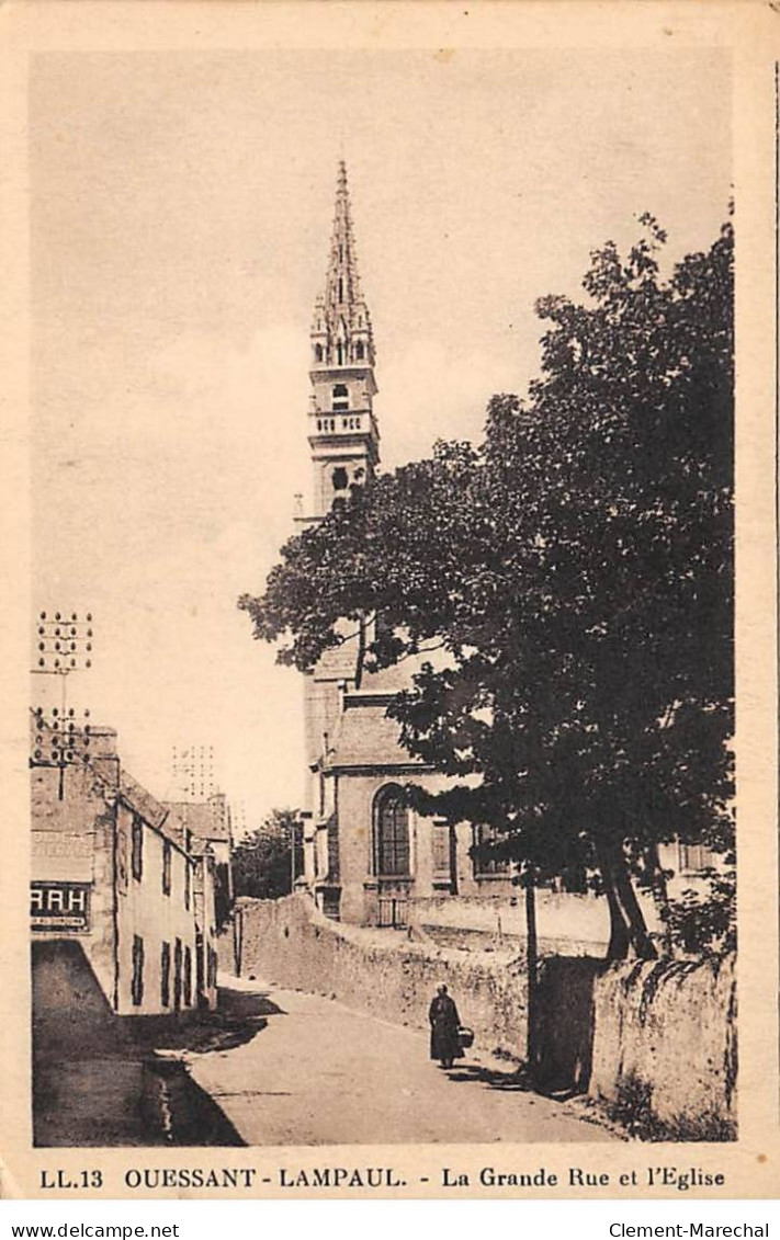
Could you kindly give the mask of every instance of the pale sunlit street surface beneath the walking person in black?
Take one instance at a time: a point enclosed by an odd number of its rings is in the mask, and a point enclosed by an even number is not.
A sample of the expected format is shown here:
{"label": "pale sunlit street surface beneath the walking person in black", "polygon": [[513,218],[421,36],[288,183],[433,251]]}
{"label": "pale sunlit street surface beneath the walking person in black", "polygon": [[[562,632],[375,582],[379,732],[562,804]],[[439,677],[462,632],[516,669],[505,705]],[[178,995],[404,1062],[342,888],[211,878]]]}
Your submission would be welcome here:
{"label": "pale sunlit street surface beneath the walking person in black", "polygon": [[231,982],[223,997],[244,1034],[187,1059],[249,1146],[618,1140],[495,1061],[444,1071],[419,1030],[259,982]]}

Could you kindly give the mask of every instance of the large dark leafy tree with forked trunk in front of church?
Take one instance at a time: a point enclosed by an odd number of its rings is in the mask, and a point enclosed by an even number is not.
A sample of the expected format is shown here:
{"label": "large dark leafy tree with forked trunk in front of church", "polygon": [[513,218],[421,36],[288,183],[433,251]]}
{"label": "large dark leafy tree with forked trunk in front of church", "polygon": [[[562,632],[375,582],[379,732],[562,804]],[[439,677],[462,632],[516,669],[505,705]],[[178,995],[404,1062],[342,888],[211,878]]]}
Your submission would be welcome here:
{"label": "large dark leafy tree with forked trunk in front of church", "polygon": [[632,874],[662,885],[660,842],[732,844],[732,229],[663,280],[641,223],[584,303],[538,304],[541,378],[479,448],[355,491],[239,601],[300,668],[345,619],[368,667],[440,647],[391,707],[451,776],[419,807],[495,825],[536,880],[595,874],[611,956],[655,951]]}

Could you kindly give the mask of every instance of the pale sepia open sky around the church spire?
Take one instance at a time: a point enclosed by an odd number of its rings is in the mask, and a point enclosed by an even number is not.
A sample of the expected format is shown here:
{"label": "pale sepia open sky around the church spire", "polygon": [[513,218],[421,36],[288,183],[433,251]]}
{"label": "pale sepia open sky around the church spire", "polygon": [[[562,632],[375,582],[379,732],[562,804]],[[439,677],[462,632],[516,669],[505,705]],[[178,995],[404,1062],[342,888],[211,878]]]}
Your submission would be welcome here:
{"label": "pale sepia open sky around the church spire", "polygon": [[670,262],[711,244],[729,91],[716,50],[33,58],[33,604],[93,615],[71,701],[154,795],[206,744],[239,823],[301,804],[300,677],[236,600],[309,492],[339,159],[392,469],[479,438],[537,372],[537,298],[579,295],[641,212]]}

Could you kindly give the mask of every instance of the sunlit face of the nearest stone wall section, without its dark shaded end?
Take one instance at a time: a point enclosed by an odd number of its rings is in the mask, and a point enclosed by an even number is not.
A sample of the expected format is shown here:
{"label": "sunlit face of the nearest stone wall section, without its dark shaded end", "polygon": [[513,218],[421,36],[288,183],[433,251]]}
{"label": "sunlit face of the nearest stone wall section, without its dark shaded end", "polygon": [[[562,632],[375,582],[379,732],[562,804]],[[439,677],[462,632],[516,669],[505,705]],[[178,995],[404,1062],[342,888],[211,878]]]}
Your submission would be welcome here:
{"label": "sunlit face of the nearest stone wall section, without its dark shaded end", "polygon": [[620,1118],[642,1135],[734,1137],[733,957],[613,966],[594,987],[593,1027],[589,1092]]}

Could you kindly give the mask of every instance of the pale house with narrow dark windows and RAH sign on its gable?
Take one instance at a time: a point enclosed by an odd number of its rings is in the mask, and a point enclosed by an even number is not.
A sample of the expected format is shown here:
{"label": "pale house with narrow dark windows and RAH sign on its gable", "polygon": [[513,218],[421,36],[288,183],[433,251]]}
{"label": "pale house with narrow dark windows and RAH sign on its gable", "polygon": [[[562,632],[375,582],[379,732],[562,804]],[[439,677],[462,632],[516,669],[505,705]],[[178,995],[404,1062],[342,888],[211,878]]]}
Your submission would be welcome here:
{"label": "pale house with narrow dark windows and RAH sign on its gable", "polygon": [[118,1016],[216,1007],[213,854],[171,830],[123,769],[115,732],[94,728],[88,760],[63,765],[32,725],[33,968],[52,960],[38,944],[78,944]]}

